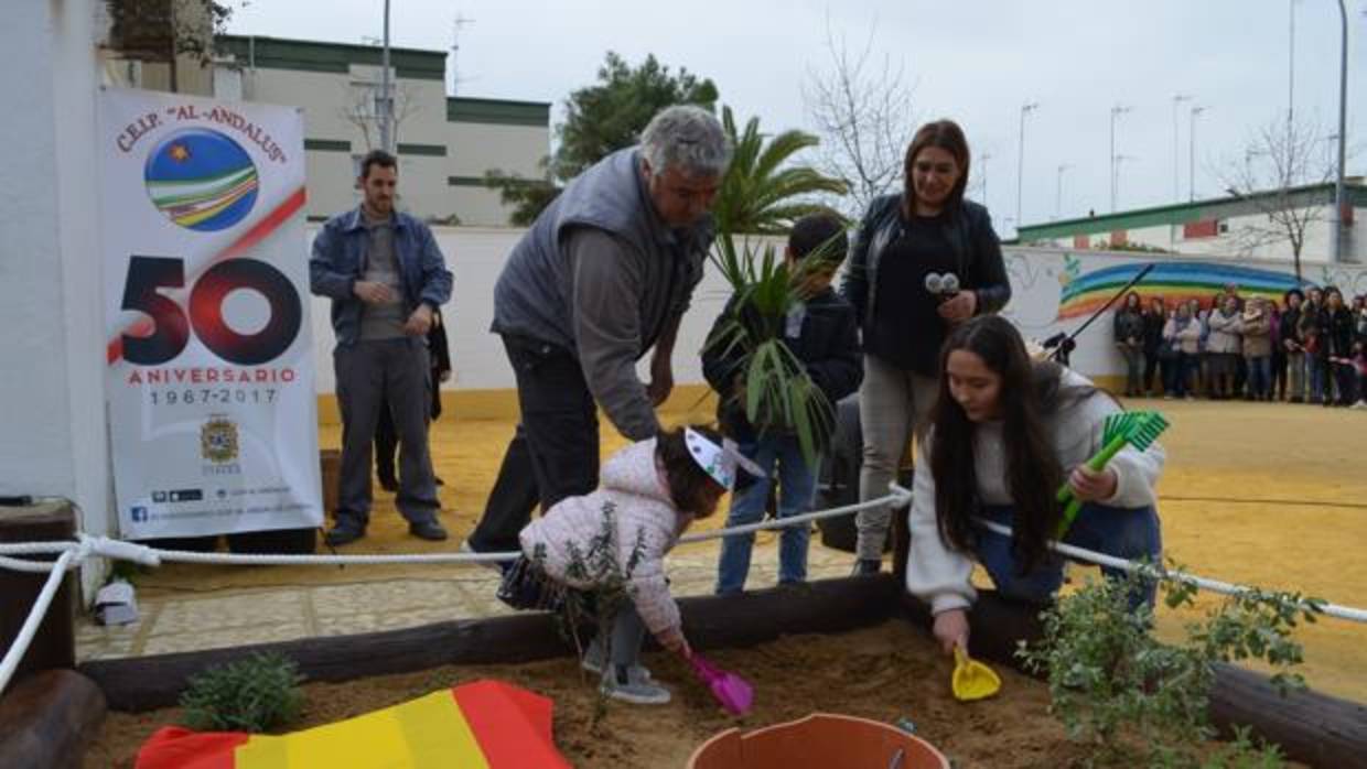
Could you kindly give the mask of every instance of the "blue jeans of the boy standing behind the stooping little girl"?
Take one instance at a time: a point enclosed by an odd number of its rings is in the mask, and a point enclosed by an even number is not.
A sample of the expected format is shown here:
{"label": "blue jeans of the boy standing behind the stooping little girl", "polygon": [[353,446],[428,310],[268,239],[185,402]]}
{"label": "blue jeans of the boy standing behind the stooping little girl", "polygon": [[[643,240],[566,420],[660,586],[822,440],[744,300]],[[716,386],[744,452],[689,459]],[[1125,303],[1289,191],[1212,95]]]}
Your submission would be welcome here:
{"label": "blue jeans of the boy standing behind the stooping little girl", "polygon": [[[741,453],[760,466],[763,475],[748,488],[731,496],[731,511],[726,526],[757,523],[768,504],[768,490],[778,464],[778,516],[787,518],[808,512],[816,493],[816,475],[802,459],[796,436],[764,437],[740,445]],[[789,526],[779,535],[778,581],[807,579],[807,542],[809,525]],[[745,589],[745,575],[750,571],[750,549],[755,534],[738,534],[722,540],[722,556],[716,568],[716,593],[740,593]]]}

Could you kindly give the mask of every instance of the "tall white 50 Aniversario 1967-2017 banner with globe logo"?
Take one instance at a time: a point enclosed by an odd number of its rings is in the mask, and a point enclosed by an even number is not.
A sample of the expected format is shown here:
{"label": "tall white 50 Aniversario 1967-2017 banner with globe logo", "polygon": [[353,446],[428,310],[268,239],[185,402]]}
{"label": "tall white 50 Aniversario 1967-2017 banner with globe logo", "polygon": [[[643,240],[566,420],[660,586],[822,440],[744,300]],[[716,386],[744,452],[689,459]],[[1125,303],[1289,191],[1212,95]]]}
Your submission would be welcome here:
{"label": "tall white 50 Aniversario 1967-2017 banner with globe logo", "polygon": [[107,89],[100,131],[122,534],[320,525],[302,115]]}

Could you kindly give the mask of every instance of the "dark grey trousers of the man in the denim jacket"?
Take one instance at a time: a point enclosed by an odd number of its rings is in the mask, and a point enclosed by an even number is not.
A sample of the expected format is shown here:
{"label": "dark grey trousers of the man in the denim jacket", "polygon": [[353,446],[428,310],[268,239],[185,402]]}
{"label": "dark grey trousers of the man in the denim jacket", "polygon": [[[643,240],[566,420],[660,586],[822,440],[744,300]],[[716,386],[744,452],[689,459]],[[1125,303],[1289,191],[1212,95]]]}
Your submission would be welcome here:
{"label": "dark grey trousers of the man in the denim jacket", "polygon": [[342,408],[342,471],[338,525],[365,529],[370,519],[370,463],[380,410],[388,408],[399,436],[399,496],[409,523],[436,520],[436,477],[428,451],[427,343],[421,336],[357,341],[332,352]]}

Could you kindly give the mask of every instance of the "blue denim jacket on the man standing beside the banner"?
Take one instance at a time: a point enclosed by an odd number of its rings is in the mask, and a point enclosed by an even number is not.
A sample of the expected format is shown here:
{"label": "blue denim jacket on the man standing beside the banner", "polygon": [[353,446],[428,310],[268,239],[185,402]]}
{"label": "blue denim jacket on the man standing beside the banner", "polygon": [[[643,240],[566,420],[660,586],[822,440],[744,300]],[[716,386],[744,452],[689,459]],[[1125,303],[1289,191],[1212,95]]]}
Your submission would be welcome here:
{"label": "blue denim jacket on the man standing beside the banner", "polygon": [[[319,296],[332,299],[332,331],[339,346],[355,344],[361,333],[365,303],[351,288],[365,277],[369,244],[370,232],[360,206],[329,219],[313,239],[309,287]],[[446,269],[446,258],[427,224],[394,212],[394,254],[403,281],[405,314],[418,305],[436,310],[451,298],[451,270]]]}

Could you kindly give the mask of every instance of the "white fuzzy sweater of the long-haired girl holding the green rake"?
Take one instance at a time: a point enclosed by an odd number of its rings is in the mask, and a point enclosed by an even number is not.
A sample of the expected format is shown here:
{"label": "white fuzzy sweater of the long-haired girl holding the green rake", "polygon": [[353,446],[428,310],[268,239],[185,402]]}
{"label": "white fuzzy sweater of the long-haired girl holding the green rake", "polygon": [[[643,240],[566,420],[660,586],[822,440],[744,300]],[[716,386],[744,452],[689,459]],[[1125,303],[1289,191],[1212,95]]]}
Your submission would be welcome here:
{"label": "white fuzzy sweater of the long-haired girl holding the green rake", "polygon": [[[1065,369],[1062,384],[1064,387],[1089,385],[1091,381]],[[1114,400],[1098,392],[1084,400],[1065,404],[1050,419],[1047,428],[1053,433],[1054,449],[1065,475],[1102,449],[1106,415],[1120,410]],[[977,598],[977,591],[969,582],[973,572],[973,561],[969,555],[958,552],[945,542],[935,522],[935,478],[931,474],[930,462],[934,451],[932,437],[927,436],[921,456],[916,460],[916,479],[912,485],[912,509],[908,525],[912,545],[906,563],[906,590],[930,602],[932,613],[940,613],[972,605]],[[977,497],[982,504],[1012,504],[1001,422],[977,425],[973,459]],[[1107,464],[1115,471],[1117,484],[1115,494],[1103,500],[1103,504],[1124,508],[1154,504],[1156,500],[1154,484],[1158,482],[1158,475],[1163,470],[1163,447],[1156,441],[1143,452],[1126,445]]]}

